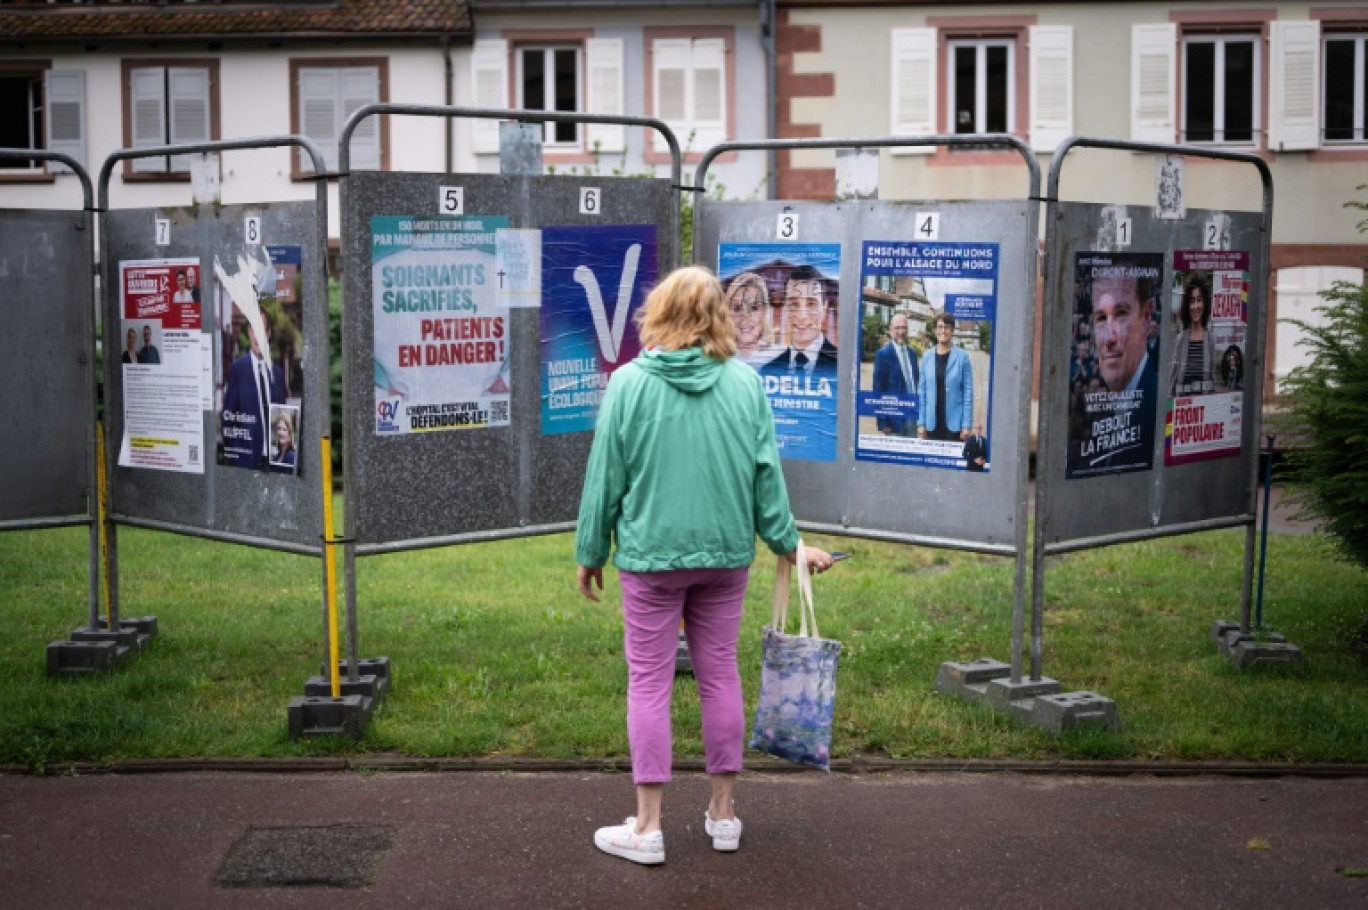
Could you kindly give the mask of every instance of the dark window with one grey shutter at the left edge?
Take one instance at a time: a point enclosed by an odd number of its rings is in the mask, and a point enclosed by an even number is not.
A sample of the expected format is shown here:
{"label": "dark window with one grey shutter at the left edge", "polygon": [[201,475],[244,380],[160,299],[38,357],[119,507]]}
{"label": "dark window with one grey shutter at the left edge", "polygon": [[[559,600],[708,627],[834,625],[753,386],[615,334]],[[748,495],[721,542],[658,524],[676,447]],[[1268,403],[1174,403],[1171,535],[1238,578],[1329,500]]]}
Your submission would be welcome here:
{"label": "dark window with one grey shutter at the left edge", "polygon": [[[85,73],[31,68],[0,70],[0,148],[52,151],[85,164]],[[0,159],[0,174],[22,178],[64,172],[38,159]]]}

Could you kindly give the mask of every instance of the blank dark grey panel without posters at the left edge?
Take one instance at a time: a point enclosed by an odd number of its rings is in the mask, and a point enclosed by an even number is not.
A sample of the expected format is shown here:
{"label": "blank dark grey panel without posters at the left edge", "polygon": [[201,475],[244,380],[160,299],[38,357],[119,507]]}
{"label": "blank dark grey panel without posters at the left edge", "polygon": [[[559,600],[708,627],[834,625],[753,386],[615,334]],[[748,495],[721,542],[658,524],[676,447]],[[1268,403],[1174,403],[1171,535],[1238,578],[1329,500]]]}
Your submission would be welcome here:
{"label": "blank dark grey panel without posters at the left edge", "polygon": [[0,211],[0,521],[89,521],[90,216]]}

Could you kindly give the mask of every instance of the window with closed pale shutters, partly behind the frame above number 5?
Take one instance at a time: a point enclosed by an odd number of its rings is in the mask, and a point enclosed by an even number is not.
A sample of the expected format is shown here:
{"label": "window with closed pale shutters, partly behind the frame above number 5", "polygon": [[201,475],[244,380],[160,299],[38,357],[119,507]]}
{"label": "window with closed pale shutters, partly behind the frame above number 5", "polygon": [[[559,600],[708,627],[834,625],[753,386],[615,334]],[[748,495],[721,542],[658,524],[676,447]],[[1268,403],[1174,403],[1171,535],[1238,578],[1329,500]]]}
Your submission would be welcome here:
{"label": "window with closed pale shutters, partly behind the frame above number 5", "polygon": [[[367,104],[384,100],[386,60],[290,60],[290,126],[309,137],[323,152],[324,167],[338,168],[338,142],[347,118]],[[350,167],[384,170],[383,118],[368,116],[352,131]],[[294,177],[313,174],[304,149],[294,155]]]}

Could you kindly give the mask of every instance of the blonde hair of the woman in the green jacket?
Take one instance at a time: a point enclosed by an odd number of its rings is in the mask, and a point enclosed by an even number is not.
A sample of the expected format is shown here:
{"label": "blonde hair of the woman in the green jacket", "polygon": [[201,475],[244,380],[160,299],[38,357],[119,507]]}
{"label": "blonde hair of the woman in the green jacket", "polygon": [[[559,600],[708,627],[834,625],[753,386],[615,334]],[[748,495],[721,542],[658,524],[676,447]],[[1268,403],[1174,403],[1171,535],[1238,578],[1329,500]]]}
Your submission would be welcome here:
{"label": "blonde hair of the woman in the green jacket", "polygon": [[736,353],[736,327],[722,285],[702,265],[685,265],[661,279],[637,312],[643,348],[702,346],[713,360]]}

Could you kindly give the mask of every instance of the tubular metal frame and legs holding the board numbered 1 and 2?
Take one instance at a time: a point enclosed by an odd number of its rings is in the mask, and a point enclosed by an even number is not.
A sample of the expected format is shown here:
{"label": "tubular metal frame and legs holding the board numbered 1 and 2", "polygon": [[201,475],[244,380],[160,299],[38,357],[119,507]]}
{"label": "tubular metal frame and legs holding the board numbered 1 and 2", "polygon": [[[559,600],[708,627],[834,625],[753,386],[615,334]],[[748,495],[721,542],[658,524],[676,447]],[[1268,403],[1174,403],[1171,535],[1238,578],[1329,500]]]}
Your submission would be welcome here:
{"label": "tubular metal frame and legs holding the board numbered 1 and 2", "polygon": [[[1263,267],[1267,270],[1270,267],[1270,252],[1272,248],[1272,205],[1274,205],[1274,187],[1272,187],[1272,174],[1268,170],[1268,164],[1257,155],[1249,155],[1244,152],[1230,152],[1224,149],[1207,149],[1189,145],[1164,145],[1164,144],[1148,144],[1148,142],[1129,142],[1120,140],[1105,140],[1093,137],[1070,137],[1066,140],[1051,159],[1049,167],[1049,181],[1047,189],[1047,227],[1045,227],[1045,319],[1049,320],[1049,304],[1051,301],[1059,300],[1059,296],[1064,293],[1064,268],[1060,261],[1062,249],[1057,237],[1057,211],[1059,211],[1059,181],[1060,172],[1063,170],[1064,159],[1068,153],[1078,148],[1096,148],[1108,149],[1119,152],[1142,152],[1149,155],[1174,155],[1182,157],[1205,157],[1215,160],[1233,161],[1239,164],[1252,164],[1259,171],[1260,181],[1263,183],[1263,219],[1260,224],[1261,241],[1260,241],[1260,256]],[[1248,465],[1248,506],[1244,515],[1238,516],[1220,516],[1208,520],[1186,521],[1182,524],[1161,525],[1155,528],[1142,528],[1138,531],[1123,531],[1118,534],[1104,534],[1089,538],[1078,538],[1073,541],[1060,541],[1056,543],[1047,545],[1047,534],[1040,525],[1036,528],[1034,547],[1033,547],[1033,590],[1031,590],[1031,643],[1030,643],[1030,676],[1031,680],[1041,679],[1041,653],[1044,647],[1044,602],[1045,602],[1045,557],[1055,556],[1060,553],[1070,553],[1075,550],[1085,550],[1099,546],[1108,546],[1112,543],[1129,543],[1135,541],[1148,541],[1152,538],[1171,536],[1178,534],[1189,534],[1193,531],[1211,531],[1216,528],[1238,527],[1245,525],[1245,558],[1244,558],[1244,583],[1241,591],[1241,629],[1244,632],[1249,631],[1249,609],[1250,609],[1250,586],[1253,577],[1253,560],[1254,560],[1254,497],[1259,489],[1259,427],[1257,417],[1263,412],[1263,363],[1264,363],[1264,345],[1267,337],[1267,309],[1268,309],[1268,281],[1267,275],[1264,281],[1259,282],[1261,290],[1257,301],[1257,312],[1261,317],[1257,320],[1257,327],[1252,328],[1246,335],[1246,376],[1254,376],[1256,380],[1246,383],[1246,397],[1245,415],[1249,419],[1245,420],[1242,427],[1241,449],[1252,446],[1253,457],[1249,460]],[[1253,322],[1253,320],[1252,320]],[[1056,435],[1060,432],[1059,423],[1060,415],[1057,406],[1051,406],[1052,398],[1055,397],[1053,387],[1047,387],[1047,382],[1056,374],[1060,368],[1063,356],[1060,352],[1051,350],[1048,346],[1049,341],[1049,326],[1045,326],[1042,338],[1047,342],[1047,349],[1041,352],[1041,406],[1040,406],[1040,471],[1037,472],[1036,483],[1036,516],[1037,523],[1042,521],[1047,516],[1047,506],[1051,501],[1052,486],[1056,482],[1053,476],[1047,469],[1053,461],[1051,454],[1051,446],[1056,442]],[[1067,364],[1066,364],[1067,368]],[[1057,385],[1057,383],[1056,383]],[[1057,402],[1055,402],[1057,404]],[[1057,447],[1057,446],[1055,446]],[[1063,452],[1063,449],[1059,449]],[[1163,471],[1163,467],[1157,467]],[[1012,681],[1019,680],[1019,654],[1014,651],[1012,654]]]}

